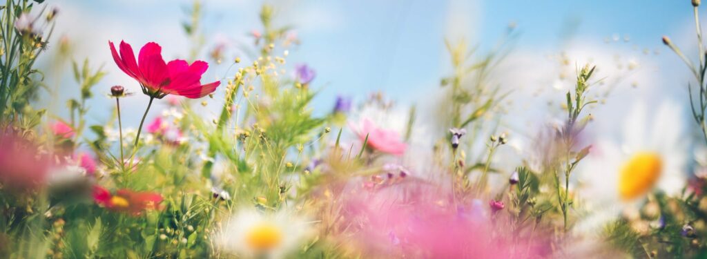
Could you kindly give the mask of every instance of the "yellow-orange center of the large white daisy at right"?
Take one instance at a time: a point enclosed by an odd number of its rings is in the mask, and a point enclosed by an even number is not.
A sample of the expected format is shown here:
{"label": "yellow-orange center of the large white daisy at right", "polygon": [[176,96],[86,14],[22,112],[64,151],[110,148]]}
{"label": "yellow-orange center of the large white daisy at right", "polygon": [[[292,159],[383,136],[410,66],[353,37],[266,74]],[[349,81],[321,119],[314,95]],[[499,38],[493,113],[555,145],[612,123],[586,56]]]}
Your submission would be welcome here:
{"label": "yellow-orange center of the large white daisy at right", "polygon": [[619,174],[619,194],[633,200],[648,192],[660,178],[662,160],[650,152],[638,152],[624,164]]}

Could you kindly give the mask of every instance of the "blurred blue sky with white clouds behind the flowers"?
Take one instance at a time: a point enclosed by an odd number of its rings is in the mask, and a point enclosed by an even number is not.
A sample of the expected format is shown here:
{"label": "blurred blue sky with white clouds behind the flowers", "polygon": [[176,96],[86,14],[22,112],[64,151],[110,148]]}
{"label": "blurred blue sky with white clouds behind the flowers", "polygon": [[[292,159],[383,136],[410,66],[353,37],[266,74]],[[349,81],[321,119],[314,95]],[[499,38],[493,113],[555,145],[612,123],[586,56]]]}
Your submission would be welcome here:
{"label": "blurred blue sky with white clouds behind the flowers", "polygon": [[[52,45],[62,38],[69,40],[74,50],[71,57],[77,61],[89,58],[109,72],[99,92],[107,93],[110,86],[120,84],[139,93],[134,80],[112,61],[108,40],[125,40],[136,51],[155,41],[163,46],[165,59],[185,58],[191,47],[182,22],[189,19],[192,1],[47,2],[59,8]],[[234,70],[229,73],[228,69],[233,57],[242,57],[248,64],[248,54],[240,48],[252,43],[252,30],[261,29],[258,13],[262,4],[201,2],[205,47],[199,57],[211,64],[204,81],[232,75]],[[637,102],[649,107],[682,103],[685,123],[693,123],[687,116],[689,71],[661,42],[662,35],[670,35],[689,57],[695,56],[689,1],[311,0],[272,4],[276,23],[292,25],[302,42],[290,50],[288,67],[307,63],[317,71],[312,84],[320,91],[314,102],[316,113],[331,110],[336,96],[361,101],[377,91],[395,100],[401,110],[415,104],[419,110],[432,111],[429,107],[438,105],[440,77],[451,69],[445,38],[452,42],[465,39],[484,54],[510,27],[519,37],[493,77],[494,84],[511,91],[502,122],[509,132],[522,132],[515,129],[559,116],[559,101],[573,86],[575,69],[586,62],[596,64],[596,78],[603,78],[594,90],[602,104],[592,110],[597,118],[593,132],[617,134],[623,116]],[[209,59],[209,51],[218,44],[228,47],[222,64]],[[57,48],[52,45],[42,57],[47,67],[56,66],[52,59]],[[62,115],[62,100],[78,95],[78,88],[72,88],[70,69],[50,71],[55,74],[47,76],[47,84],[58,90],[60,98],[47,96],[41,105]],[[136,127],[146,103],[143,99],[146,96],[137,94],[125,100],[125,125]],[[109,102],[107,97],[93,98],[90,120],[107,120],[113,108]],[[211,103],[214,111],[220,107]],[[208,119],[209,111],[205,114]],[[522,138],[515,139],[522,142]]]}

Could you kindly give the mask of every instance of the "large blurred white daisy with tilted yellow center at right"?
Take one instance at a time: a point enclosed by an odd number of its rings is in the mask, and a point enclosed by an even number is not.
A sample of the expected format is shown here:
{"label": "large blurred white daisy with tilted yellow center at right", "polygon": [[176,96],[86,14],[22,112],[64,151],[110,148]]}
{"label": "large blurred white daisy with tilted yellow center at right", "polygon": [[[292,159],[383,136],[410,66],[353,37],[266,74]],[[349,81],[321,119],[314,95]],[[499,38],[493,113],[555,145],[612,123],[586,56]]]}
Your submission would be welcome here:
{"label": "large blurred white daisy with tilted yellow center at right", "polygon": [[626,117],[619,142],[603,140],[592,147],[581,163],[578,190],[592,214],[579,231],[596,230],[653,190],[679,194],[686,180],[683,125],[677,105],[663,103],[650,115],[639,104]]}

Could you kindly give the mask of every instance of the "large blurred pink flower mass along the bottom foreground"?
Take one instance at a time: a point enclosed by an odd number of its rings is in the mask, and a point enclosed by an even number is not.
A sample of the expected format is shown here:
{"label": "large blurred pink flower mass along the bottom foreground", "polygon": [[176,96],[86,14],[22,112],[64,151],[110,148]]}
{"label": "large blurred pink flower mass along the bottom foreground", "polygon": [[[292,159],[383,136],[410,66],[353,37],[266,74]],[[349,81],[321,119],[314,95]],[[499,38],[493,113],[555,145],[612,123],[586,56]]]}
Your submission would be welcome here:
{"label": "large blurred pink flower mass along the bottom foreground", "polygon": [[493,224],[481,200],[453,205],[449,190],[422,180],[357,187],[341,197],[356,243],[373,258],[542,258],[547,253],[542,236],[524,240],[512,228]]}

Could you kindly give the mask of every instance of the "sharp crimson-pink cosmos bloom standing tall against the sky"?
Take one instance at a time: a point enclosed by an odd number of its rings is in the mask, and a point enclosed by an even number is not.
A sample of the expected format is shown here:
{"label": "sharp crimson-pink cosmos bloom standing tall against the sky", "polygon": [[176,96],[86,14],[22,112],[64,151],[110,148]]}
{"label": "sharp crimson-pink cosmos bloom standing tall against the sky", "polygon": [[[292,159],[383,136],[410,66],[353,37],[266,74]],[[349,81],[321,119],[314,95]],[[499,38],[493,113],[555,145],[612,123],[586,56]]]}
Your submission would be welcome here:
{"label": "sharp crimson-pink cosmos bloom standing tall against the sky", "polygon": [[113,42],[108,42],[115,64],[139,81],[143,93],[154,98],[163,98],[168,94],[201,98],[216,91],[221,81],[201,84],[201,75],[209,68],[203,61],[195,61],[189,65],[186,61],[175,59],[166,63],[162,58],[162,47],[155,42],[148,42],[140,50],[138,60],[129,44],[120,42],[120,54],[115,50]]}

